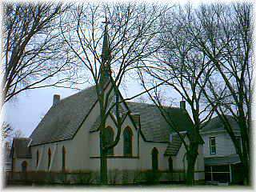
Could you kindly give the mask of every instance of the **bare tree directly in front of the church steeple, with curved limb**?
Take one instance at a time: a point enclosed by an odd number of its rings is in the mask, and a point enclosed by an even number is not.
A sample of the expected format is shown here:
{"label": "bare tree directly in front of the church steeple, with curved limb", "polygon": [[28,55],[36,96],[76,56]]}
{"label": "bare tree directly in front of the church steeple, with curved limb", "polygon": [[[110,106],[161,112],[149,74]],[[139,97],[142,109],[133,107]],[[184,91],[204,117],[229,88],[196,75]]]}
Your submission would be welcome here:
{"label": "bare tree directly in front of the church steeple, with curved limb", "polygon": [[[119,97],[118,87],[138,61],[150,58],[161,47],[155,39],[166,10],[132,2],[82,3],[62,15],[62,38],[71,50],[70,57],[75,58],[80,74],[89,71],[98,97],[102,184],[108,181],[107,151],[118,144],[122,123],[129,115],[129,111],[120,113],[119,104],[124,99]],[[105,129],[108,117],[117,127],[116,138],[111,142]]]}

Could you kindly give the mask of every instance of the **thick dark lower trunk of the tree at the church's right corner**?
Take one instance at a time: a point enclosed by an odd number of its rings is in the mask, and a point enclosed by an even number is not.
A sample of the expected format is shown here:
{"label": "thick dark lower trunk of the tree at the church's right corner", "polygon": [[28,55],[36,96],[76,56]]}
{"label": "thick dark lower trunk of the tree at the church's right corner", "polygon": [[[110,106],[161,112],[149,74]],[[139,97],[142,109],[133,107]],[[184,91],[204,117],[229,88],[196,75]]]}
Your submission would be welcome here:
{"label": "thick dark lower trunk of the tree at the church's right corner", "polygon": [[194,166],[198,157],[198,144],[191,144],[190,150],[187,151],[186,161],[187,161],[187,170],[186,170],[186,185],[194,185]]}

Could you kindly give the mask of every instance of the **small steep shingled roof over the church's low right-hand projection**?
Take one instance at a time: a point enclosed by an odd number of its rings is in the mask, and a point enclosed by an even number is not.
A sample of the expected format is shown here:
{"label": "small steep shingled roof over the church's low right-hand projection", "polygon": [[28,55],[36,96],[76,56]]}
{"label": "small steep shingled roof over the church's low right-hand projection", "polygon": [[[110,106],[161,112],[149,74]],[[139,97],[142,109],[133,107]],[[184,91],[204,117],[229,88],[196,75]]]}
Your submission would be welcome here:
{"label": "small steep shingled roof over the church's low right-hand projection", "polygon": [[[185,138],[186,134],[181,134]],[[182,139],[179,138],[178,134],[173,136],[172,142],[170,142],[166,148],[165,156],[175,156],[178,153],[179,148],[182,146]]]}

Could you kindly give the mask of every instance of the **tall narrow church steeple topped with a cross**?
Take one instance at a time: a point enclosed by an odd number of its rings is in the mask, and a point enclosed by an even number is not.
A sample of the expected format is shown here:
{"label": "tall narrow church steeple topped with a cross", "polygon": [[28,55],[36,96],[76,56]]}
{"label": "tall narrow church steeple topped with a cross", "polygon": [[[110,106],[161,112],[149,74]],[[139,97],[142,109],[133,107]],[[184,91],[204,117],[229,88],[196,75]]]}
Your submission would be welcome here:
{"label": "tall narrow church steeple topped with a cross", "polygon": [[100,82],[106,82],[106,80],[110,77],[110,40],[109,40],[109,34],[107,25],[109,22],[107,22],[107,19],[105,22],[105,30],[104,30],[104,36],[103,36],[103,46],[102,46],[102,66],[101,66],[101,77]]}

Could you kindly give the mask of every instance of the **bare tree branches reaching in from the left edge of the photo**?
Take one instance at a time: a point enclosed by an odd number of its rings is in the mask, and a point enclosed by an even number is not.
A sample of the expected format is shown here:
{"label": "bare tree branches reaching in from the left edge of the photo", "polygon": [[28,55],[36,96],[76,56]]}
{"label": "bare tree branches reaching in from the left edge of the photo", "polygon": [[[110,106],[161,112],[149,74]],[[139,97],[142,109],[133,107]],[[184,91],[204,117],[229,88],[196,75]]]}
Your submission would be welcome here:
{"label": "bare tree branches reaching in from the left edge of the photo", "polygon": [[74,71],[60,51],[65,47],[57,25],[58,15],[67,7],[49,2],[3,4],[1,109],[24,90],[71,81]]}

